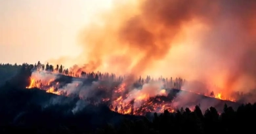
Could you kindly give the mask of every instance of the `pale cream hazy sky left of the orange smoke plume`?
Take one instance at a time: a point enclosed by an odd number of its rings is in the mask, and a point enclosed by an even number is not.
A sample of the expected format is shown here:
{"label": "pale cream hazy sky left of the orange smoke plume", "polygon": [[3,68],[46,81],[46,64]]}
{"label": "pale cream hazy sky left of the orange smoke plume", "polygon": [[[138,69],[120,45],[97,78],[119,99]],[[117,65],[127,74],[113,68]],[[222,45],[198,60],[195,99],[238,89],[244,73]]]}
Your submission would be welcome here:
{"label": "pale cream hazy sky left of the orange smoke plume", "polygon": [[0,63],[77,56],[77,35],[110,5],[110,0],[0,0]]}

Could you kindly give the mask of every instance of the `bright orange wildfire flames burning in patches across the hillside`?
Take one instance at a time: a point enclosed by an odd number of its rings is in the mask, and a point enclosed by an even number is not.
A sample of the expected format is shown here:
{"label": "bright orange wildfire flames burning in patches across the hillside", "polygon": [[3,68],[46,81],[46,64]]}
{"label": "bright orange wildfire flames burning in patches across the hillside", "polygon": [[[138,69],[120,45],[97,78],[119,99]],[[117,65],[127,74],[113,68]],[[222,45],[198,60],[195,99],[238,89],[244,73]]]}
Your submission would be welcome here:
{"label": "bright orange wildfire flames burning in patches across the hillside", "polygon": [[[79,84],[75,84],[78,87]],[[48,78],[40,80],[36,76],[30,77],[30,85],[26,87],[39,88],[45,90],[47,93],[54,93],[56,95],[69,95],[66,90],[60,90],[59,82],[56,82],[54,78]],[[135,114],[144,115],[146,112],[163,112],[169,110],[169,112],[175,112],[178,108],[173,105],[173,99],[167,97],[166,90],[162,89],[157,95],[152,96],[150,92],[141,92],[137,90],[135,93],[127,92],[127,84],[121,83],[119,86],[115,86],[112,89],[99,85],[95,90],[106,90],[106,92],[112,92],[112,95],[102,97],[100,103],[106,103],[109,105],[110,110],[118,112],[120,114]],[[184,89],[182,89],[184,90]],[[185,90],[186,92],[192,92]],[[192,92],[196,93],[196,92]],[[198,95],[205,95],[202,93],[196,93]],[[80,96],[80,95],[79,95]],[[234,101],[223,97],[222,93],[217,95],[205,95],[209,97],[215,97],[217,99],[223,99],[228,101]]]}

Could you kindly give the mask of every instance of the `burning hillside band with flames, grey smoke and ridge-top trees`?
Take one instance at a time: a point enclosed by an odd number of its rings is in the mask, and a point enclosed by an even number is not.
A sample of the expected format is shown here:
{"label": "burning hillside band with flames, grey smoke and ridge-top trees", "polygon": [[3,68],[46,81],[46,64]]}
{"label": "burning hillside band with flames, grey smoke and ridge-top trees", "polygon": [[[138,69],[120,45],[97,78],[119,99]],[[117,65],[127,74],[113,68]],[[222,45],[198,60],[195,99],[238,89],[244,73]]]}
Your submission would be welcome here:
{"label": "burning hillside band with flames, grey smoke and ridge-top trees", "polygon": [[[182,78],[167,80],[147,76],[128,85],[124,76],[83,71],[80,74],[63,69],[62,65],[56,65],[54,69],[53,65],[38,62],[32,69],[30,85],[26,88],[37,87],[65,96],[78,95],[89,103],[104,103],[110,110],[121,114],[145,115],[147,112],[163,112],[165,109],[172,112],[181,107],[194,109],[195,105],[202,105],[203,110],[209,105],[221,110],[225,102],[237,107],[236,103],[230,102],[234,101],[232,98],[221,97],[220,93],[214,95],[212,92],[181,90],[186,84]],[[193,98],[193,101],[186,101],[188,97]]]}

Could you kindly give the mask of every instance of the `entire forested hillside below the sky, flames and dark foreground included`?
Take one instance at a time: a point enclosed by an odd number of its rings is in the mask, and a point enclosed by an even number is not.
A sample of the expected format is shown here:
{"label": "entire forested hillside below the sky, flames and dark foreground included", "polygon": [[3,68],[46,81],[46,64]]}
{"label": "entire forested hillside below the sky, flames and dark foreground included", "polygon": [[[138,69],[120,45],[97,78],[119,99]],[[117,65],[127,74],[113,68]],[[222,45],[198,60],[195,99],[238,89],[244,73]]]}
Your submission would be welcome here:
{"label": "entire forested hillside below the sky, flames and dark foreground included", "polygon": [[147,76],[129,84],[125,76],[41,63],[1,64],[0,73],[11,74],[2,76],[0,90],[5,133],[235,132],[256,119],[256,105],[242,105],[252,93],[190,91],[182,78]]}

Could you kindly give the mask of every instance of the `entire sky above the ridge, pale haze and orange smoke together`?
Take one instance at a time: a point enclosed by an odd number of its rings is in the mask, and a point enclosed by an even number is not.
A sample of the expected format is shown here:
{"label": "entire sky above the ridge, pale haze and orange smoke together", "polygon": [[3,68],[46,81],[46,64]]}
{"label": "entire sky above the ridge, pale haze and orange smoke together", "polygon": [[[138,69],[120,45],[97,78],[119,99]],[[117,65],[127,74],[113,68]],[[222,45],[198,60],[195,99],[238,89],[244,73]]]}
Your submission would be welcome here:
{"label": "entire sky above the ridge, pale haze and orange smoke together", "polygon": [[1,6],[3,62],[71,63],[77,74],[181,76],[216,84],[225,93],[256,87],[255,0],[37,0]]}

